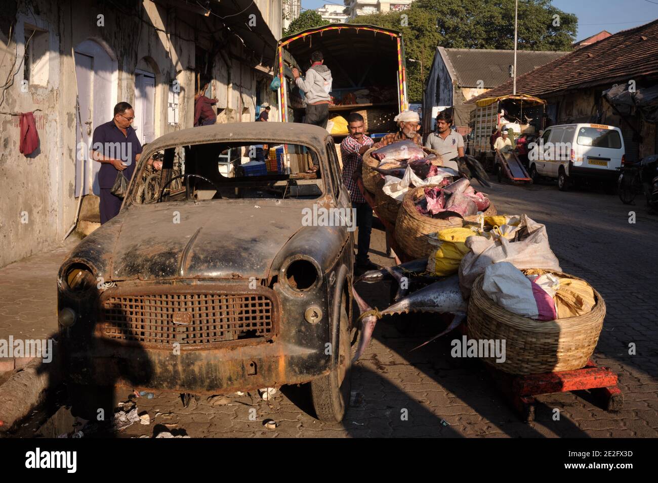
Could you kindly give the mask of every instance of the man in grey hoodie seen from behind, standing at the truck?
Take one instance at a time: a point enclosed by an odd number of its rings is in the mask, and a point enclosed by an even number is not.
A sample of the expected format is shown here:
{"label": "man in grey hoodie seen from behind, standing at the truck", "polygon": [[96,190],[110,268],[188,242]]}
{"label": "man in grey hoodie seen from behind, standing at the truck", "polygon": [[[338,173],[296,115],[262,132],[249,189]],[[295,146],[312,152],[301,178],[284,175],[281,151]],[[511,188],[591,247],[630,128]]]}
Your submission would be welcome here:
{"label": "man in grey hoodie seen from behind, standing at the truck", "polygon": [[329,93],[331,91],[331,71],[324,65],[320,51],[311,54],[311,68],[306,71],[306,80],[299,76],[299,70],[292,68],[297,87],[306,95],[306,124],[327,127],[329,119]]}

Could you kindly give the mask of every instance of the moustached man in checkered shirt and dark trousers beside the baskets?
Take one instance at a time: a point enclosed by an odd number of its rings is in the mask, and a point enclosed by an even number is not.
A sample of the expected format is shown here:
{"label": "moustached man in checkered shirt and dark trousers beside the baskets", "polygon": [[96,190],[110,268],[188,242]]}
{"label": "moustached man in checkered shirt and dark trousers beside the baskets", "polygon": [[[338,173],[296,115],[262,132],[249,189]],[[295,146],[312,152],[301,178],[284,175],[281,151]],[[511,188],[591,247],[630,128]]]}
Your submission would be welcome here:
{"label": "moustached man in checkered shirt and dark trousers beside the baskets", "polygon": [[372,147],[372,139],[363,133],[363,116],[353,112],[347,116],[347,129],[349,136],[340,143],[340,154],[343,160],[343,183],[349,191],[352,200],[352,208],[357,212],[357,227],[359,227],[359,239],[357,241],[357,270],[365,271],[380,268],[370,262],[368,250],[370,250],[370,232],[372,231],[372,208],[368,205],[359,187],[357,178],[361,177],[361,164],[363,154]]}

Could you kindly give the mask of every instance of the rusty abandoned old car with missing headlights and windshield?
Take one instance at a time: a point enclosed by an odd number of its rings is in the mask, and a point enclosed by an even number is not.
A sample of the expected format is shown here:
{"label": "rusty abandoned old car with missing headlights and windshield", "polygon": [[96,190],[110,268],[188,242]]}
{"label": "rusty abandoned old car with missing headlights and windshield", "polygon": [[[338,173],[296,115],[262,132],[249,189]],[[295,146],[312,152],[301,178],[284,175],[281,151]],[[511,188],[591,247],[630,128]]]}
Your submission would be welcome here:
{"label": "rusty abandoned old car with missing headlights and windshield", "polygon": [[[245,162],[276,147],[270,172]],[[163,160],[155,188],[149,158]],[[348,218],[308,216],[322,210]],[[59,270],[67,384],[228,394],[309,383],[318,418],[340,421],[351,384],[349,210],[320,127],[216,124],[149,143],[118,216]]]}

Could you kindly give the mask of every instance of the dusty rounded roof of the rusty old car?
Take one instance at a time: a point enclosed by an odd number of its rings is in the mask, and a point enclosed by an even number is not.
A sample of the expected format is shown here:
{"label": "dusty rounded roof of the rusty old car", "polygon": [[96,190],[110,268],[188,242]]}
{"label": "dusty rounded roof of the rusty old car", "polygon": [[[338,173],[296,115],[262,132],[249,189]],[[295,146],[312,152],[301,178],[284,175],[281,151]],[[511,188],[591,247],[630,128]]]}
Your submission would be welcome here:
{"label": "dusty rounded roof of the rusty old car", "polygon": [[[297,122],[231,122],[211,126],[191,127],[167,133],[155,139],[148,149],[161,150],[169,147],[240,141],[263,141],[276,144],[302,144],[322,147],[329,137],[326,129],[312,124]],[[323,152],[318,149],[320,154]]]}

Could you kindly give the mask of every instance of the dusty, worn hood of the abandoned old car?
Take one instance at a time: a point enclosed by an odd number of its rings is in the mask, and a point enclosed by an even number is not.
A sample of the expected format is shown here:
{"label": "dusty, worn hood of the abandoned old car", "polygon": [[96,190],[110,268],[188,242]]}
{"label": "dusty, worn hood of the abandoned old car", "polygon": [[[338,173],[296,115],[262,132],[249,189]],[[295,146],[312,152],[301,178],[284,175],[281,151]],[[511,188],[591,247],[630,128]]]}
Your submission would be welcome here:
{"label": "dusty, worn hood of the abandoned old car", "polygon": [[122,213],[113,280],[266,278],[301,228],[303,205],[226,200]]}

